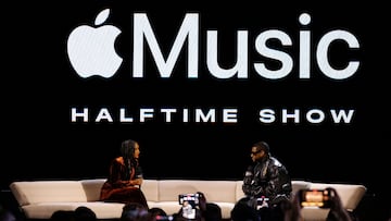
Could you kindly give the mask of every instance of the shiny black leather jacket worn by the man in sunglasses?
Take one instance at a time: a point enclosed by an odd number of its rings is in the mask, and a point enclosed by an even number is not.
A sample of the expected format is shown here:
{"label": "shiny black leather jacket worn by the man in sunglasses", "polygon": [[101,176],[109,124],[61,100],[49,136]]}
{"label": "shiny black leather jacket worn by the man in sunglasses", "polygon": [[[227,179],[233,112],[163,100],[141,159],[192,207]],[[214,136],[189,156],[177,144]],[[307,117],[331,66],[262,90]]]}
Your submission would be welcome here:
{"label": "shiny black leather jacket worn by the man in sunglasses", "polygon": [[266,197],[273,202],[281,196],[291,197],[292,182],[286,167],[267,156],[248,168],[242,189],[248,197]]}

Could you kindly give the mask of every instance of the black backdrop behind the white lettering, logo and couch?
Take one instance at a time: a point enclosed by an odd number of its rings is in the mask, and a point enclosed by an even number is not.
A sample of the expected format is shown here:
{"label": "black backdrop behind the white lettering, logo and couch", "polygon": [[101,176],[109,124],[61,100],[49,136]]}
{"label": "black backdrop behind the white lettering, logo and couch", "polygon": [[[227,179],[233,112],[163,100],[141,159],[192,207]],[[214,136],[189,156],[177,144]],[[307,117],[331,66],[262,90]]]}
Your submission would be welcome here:
{"label": "black backdrop behind the white lettering, logo and couch", "polygon": [[[111,78],[81,78],[66,56],[66,40],[78,25],[92,24],[97,14],[111,9],[108,23],[119,26],[116,50],[124,59]],[[112,1],[60,1],[49,4],[13,3],[2,19],[2,151],[1,188],[15,180],[104,177],[121,142],[140,143],[141,163],[147,179],[240,180],[250,161],[251,145],[266,140],[272,152],[289,169],[293,179],[319,182],[358,183],[376,197],[390,196],[388,106],[389,78],[388,12],[384,5],[341,5],[325,1],[265,3],[201,2],[154,3]],[[182,50],[171,78],[159,77],[146,49],[146,77],[131,76],[133,14],[146,12],[163,51],[173,44],[186,13],[200,15],[199,78],[186,76]],[[312,58],[310,79],[298,74],[298,17],[312,16]],[[266,29],[280,29],[292,39],[285,50],[294,61],[292,73],[281,79],[266,79],[252,64],[262,61],[254,49],[255,37]],[[249,78],[217,79],[206,67],[206,29],[218,30],[219,59],[229,67],[235,61],[237,30],[249,30]],[[331,62],[343,65],[352,58],[361,62],[356,74],[335,81],[321,74],[315,63],[315,46],[332,29],[351,32],[360,50],[343,45],[330,49]],[[185,45],[186,46],[186,45]],[[268,61],[275,65],[273,61]],[[88,123],[71,122],[71,109],[89,108]],[[108,108],[114,122],[93,122],[97,112]],[[121,123],[125,108],[134,123]],[[154,108],[156,118],[137,122],[140,108]],[[165,123],[161,108],[215,108],[215,123],[184,123],[175,116]],[[220,110],[238,109],[237,123],[224,123]],[[260,123],[257,111],[276,111],[276,121]],[[282,123],[281,110],[300,111],[300,122]],[[325,121],[312,124],[305,113],[325,112]],[[333,123],[330,110],[354,110],[350,123]],[[389,204],[388,204],[389,205]]]}

